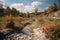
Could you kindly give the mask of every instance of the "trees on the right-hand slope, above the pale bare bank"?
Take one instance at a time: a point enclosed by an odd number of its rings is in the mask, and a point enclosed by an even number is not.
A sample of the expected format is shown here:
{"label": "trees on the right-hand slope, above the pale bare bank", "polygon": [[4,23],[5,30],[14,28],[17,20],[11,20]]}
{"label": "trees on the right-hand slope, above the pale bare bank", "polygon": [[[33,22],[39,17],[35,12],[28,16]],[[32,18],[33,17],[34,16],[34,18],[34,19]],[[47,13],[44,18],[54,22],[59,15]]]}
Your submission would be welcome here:
{"label": "trees on the right-hand slope, above the pale bare bank", "polygon": [[53,3],[52,5],[48,6],[48,9],[44,11],[45,15],[49,15],[52,12],[56,12],[60,10],[60,3]]}

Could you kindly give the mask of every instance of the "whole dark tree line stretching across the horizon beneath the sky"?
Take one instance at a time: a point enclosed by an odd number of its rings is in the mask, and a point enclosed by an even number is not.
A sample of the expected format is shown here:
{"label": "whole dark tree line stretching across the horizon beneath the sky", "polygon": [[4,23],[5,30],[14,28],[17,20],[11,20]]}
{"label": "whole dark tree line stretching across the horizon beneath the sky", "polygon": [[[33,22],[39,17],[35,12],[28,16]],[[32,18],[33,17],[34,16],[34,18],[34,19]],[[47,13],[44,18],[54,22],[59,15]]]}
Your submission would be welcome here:
{"label": "whole dark tree line stretching across the horizon beneath the sky", "polygon": [[[38,8],[35,8],[35,11],[32,12],[32,13],[23,13],[23,12],[19,12],[19,10],[15,9],[15,8],[10,8],[10,7],[7,7],[7,8],[3,8],[4,11],[4,16],[5,15],[12,15],[12,16],[21,16],[21,17],[33,17],[33,16],[37,16],[37,15],[40,15],[40,14],[43,14],[43,12],[38,12]],[[44,14],[45,15],[48,15],[50,14],[51,12],[55,12],[55,11],[58,11],[60,10],[60,3],[53,3],[52,5],[48,6],[48,9],[44,11]],[[0,13],[2,14],[2,13]]]}

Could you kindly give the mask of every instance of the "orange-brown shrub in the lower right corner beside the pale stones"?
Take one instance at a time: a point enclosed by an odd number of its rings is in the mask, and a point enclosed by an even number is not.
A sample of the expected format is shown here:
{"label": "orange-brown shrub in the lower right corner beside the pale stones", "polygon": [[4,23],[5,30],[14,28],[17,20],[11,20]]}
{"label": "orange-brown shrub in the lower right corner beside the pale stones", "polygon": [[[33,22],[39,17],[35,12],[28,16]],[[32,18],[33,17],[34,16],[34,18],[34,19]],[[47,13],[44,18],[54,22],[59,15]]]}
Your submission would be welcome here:
{"label": "orange-brown shrub in the lower right corner beside the pale stones", "polygon": [[50,40],[59,40],[60,39],[60,23],[59,21],[55,21],[52,23],[47,23],[44,25],[44,32],[46,33],[46,37],[50,38]]}

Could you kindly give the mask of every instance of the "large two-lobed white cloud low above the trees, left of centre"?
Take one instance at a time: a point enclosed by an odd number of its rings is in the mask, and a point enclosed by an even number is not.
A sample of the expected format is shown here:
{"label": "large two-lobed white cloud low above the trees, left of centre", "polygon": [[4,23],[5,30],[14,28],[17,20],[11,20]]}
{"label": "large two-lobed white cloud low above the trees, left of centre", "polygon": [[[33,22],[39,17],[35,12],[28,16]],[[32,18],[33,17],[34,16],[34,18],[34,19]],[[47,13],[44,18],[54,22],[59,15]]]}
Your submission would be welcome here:
{"label": "large two-lobed white cloud low above the trees, left of centre", "polygon": [[10,8],[16,8],[20,12],[33,12],[35,6],[32,5],[24,5],[23,3],[14,3],[10,5]]}

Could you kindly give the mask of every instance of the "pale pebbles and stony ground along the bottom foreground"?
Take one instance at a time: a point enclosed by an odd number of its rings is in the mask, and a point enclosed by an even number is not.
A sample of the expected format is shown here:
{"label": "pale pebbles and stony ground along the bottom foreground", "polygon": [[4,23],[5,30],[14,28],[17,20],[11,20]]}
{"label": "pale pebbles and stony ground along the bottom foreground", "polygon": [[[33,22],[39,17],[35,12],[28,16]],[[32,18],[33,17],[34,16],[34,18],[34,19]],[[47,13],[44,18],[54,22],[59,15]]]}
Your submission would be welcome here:
{"label": "pale pebbles and stony ground along the bottom foreground", "polygon": [[15,33],[10,35],[6,40],[49,40],[45,37],[45,33],[39,28],[33,30],[33,35],[26,35],[23,33]]}

